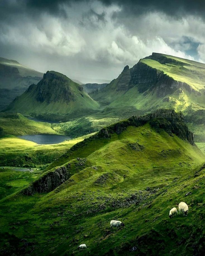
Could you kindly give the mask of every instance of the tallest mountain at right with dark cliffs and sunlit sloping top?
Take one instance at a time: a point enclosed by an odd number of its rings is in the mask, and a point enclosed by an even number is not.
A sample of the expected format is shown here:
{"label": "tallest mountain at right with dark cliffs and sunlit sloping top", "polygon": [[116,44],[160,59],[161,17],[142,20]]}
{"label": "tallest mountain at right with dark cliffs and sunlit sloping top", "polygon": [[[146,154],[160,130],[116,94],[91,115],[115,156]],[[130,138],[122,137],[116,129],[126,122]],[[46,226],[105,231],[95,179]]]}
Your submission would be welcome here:
{"label": "tallest mountain at right with dark cliffs and sunlit sloping top", "polygon": [[158,108],[182,111],[197,138],[205,140],[204,85],[205,64],[153,53],[132,68],[126,66],[117,79],[90,96],[104,107],[105,116],[128,117]]}

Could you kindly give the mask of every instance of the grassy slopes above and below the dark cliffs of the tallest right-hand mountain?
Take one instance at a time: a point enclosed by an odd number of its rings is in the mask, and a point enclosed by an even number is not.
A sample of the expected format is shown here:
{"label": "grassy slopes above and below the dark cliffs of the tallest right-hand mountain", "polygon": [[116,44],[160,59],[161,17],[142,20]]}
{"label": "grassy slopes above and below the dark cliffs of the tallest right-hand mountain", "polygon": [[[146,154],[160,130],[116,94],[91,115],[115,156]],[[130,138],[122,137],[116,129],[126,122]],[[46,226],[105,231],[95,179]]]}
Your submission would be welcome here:
{"label": "grassy slopes above and below the dark cliffs of the tallest right-hand mountain", "polygon": [[[167,64],[160,63],[166,62],[163,60],[164,57],[168,60]],[[205,141],[203,129],[205,123],[205,64],[165,54],[153,54],[153,56],[141,59],[140,62],[162,71],[177,81],[189,84],[200,93],[196,95],[196,93],[190,93],[184,89],[181,93],[176,90],[164,97],[157,97],[155,88],[140,93],[138,85],[128,91],[118,91],[117,83],[120,75],[100,93],[91,94],[102,105],[108,104],[100,114],[105,117],[127,118],[130,115],[152,112],[158,108],[173,108],[177,112],[182,111],[184,113],[189,122],[189,128],[196,132],[195,139]]]}

